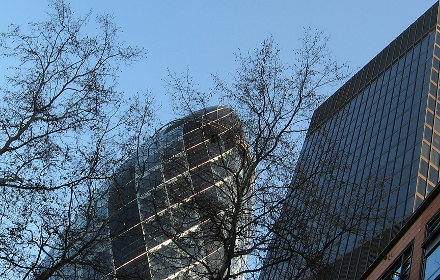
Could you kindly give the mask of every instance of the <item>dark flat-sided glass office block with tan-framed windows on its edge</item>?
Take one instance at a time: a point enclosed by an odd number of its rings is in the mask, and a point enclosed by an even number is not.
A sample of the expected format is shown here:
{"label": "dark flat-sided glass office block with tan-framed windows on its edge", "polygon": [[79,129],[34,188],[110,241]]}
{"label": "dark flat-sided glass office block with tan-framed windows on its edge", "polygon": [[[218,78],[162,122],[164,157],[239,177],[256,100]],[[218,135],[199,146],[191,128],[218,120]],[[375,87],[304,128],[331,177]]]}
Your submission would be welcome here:
{"label": "dark flat-sided glass office block with tan-framed windows on its edge", "polygon": [[[436,195],[440,167],[439,24],[436,3],[314,112],[298,169],[307,173],[318,162],[340,166],[333,170],[331,178],[338,179],[333,182],[310,174],[323,187],[321,199],[342,200],[367,191],[353,185],[381,182],[363,185],[377,188],[370,193],[381,197],[363,233],[369,238],[345,234],[335,242],[326,255],[334,270],[327,278],[364,279],[373,270],[376,278],[371,279],[411,275],[410,279],[433,280],[440,275],[440,219],[434,215],[440,204],[427,200]],[[428,208],[428,214],[423,212]],[[417,224],[422,221],[424,225]],[[414,236],[405,235],[410,225],[419,225],[420,231],[413,232],[426,231],[426,236],[415,242]],[[426,238],[423,248],[420,238]],[[390,254],[396,244],[401,250]],[[384,256],[389,258],[380,262]],[[418,268],[411,270],[414,263]],[[282,263],[261,278],[288,279],[296,273],[291,267]]]}

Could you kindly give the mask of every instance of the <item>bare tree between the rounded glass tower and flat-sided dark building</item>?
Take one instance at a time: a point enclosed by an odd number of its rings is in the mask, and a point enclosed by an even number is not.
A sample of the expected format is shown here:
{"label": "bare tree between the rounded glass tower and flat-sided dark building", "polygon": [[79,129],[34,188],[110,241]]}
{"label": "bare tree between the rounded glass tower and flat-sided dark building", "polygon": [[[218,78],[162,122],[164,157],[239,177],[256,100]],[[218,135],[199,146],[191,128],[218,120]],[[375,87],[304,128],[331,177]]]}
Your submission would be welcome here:
{"label": "bare tree between the rounded glass tower and flat-sided dark building", "polygon": [[[317,187],[313,178],[321,176],[346,184],[341,178],[329,177],[334,169],[344,168],[338,158],[317,162],[307,172],[298,168],[300,135],[324,98],[319,91],[348,76],[346,66],[338,66],[331,59],[327,38],[321,36],[319,31],[306,30],[293,66],[281,61],[280,48],[271,38],[265,40],[261,48],[237,55],[240,67],[232,75],[231,86],[214,75],[210,93],[199,92],[187,72],[182,76],[170,74],[168,89],[175,107],[186,115],[184,119],[190,119],[195,108],[206,106],[212,95],[229,104],[236,117],[234,128],[220,130],[211,128],[213,120],[211,124],[193,118],[198,123],[195,128],[203,130],[205,138],[201,142],[206,145],[209,168],[203,171],[205,165],[197,162],[193,165],[199,169],[191,170],[191,151],[179,151],[186,152],[188,166],[186,173],[178,174],[187,175],[182,175],[180,182],[170,183],[168,189],[183,188],[188,185],[187,178],[201,178],[214,186],[215,194],[188,189],[183,197],[190,199],[182,201],[174,197],[179,192],[170,191],[167,195],[174,203],[168,202],[167,207],[183,208],[177,211],[179,215],[171,210],[164,215],[166,207],[156,204],[156,227],[167,236],[172,244],[169,246],[184,252],[175,256],[180,262],[168,266],[179,263],[178,268],[190,271],[188,275],[194,278],[233,279],[258,278],[261,271],[288,263],[289,271],[295,273],[286,275],[286,279],[300,279],[328,273],[326,262],[335,257],[332,246],[347,233],[367,234],[361,229],[370,213],[377,211],[380,200],[380,195],[373,195],[368,186],[380,186],[382,182],[367,180],[351,186],[358,191],[348,200],[338,200],[337,195],[326,200],[325,193],[318,191],[323,188]],[[328,141],[332,145],[338,139]],[[174,168],[180,166],[175,155],[163,157],[174,158]],[[369,203],[365,203],[366,197],[371,198]],[[302,202],[293,204],[294,200]],[[298,205],[297,209],[292,205]],[[283,212],[287,207],[290,210]],[[335,208],[347,211],[335,212]],[[203,226],[197,234],[182,234],[189,227],[182,228],[183,221]],[[213,259],[204,257],[209,246],[215,248]],[[156,254],[158,258],[167,257]]]}

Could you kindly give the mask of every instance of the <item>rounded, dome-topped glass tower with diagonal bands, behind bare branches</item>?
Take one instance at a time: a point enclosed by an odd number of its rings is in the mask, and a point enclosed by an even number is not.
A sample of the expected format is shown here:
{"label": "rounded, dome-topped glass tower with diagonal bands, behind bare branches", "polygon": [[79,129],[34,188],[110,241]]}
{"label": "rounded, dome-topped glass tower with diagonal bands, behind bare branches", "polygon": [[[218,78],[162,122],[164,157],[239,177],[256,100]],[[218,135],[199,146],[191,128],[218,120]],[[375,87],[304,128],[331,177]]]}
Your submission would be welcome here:
{"label": "rounded, dome-topped glass tower with diagonal bands, behind bare branches", "polygon": [[[208,279],[203,264],[215,271],[222,259],[213,216],[228,218],[228,196],[235,189],[229,177],[252,160],[241,131],[226,106],[196,111],[161,128],[111,184],[101,213],[109,219],[110,238],[95,246],[93,265],[73,262],[63,268],[64,277]],[[246,233],[237,236],[237,246],[246,238]],[[245,262],[236,259],[232,270]]]}

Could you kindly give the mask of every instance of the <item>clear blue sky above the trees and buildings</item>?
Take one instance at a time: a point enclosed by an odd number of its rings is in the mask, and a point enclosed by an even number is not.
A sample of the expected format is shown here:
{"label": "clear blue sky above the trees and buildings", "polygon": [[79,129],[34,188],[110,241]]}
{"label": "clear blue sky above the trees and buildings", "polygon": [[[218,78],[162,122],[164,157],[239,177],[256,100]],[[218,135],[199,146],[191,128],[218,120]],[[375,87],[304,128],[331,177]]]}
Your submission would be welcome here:
{"label": "clear blue sky above the trees and buildings", "polygon": [[[123,68],[118,89],[127,94],[151,90],[162,104],[158,114],[167,121],[173,118],[162,80],[167,68],[181,72],[188,67],[200,89],[207,91],[210,73],[226,77],[234,72],[234,53],[252,50],[270,35],[282,47],[282,59],[293,62],[292,50],[300,46],[298,38],[307,26],[319,27],[331,37],[329,48],[338,62],[361,68],[433,4],[433,0],[76,0],[71,8],[77,14],[90,9],[94,14],[113,13],[124,31],[120,39],[149,50],[146,60]],[[12,22],[25,27],[44,20],[46,10],[43,0],[3,3],[0,31]],[[0,77],[7,66],[0,61]]]}

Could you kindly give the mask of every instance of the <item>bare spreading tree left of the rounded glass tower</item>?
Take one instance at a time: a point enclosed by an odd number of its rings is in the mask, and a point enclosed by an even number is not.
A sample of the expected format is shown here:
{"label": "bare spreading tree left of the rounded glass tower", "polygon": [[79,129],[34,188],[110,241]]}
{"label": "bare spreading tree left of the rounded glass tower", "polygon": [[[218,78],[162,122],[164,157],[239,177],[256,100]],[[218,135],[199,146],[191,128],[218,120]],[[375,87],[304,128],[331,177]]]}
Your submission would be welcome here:
{"label": "bare spreading tree left of the rounded glass tower", "polygon": [[108,237],[102,185],[153,120],[149,93],[115,90],[120,66],[146,50],[118,41],[112,15],[97,16],[93,35],[91,14],[76,17],[62,0],[49,8],[46,21],[0,33],[0,53],[18,63],[0,88],[2,279],[62,278],[66,265],[91,264],[93,244]]}

